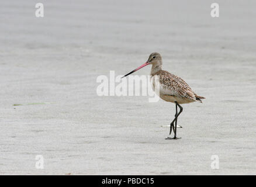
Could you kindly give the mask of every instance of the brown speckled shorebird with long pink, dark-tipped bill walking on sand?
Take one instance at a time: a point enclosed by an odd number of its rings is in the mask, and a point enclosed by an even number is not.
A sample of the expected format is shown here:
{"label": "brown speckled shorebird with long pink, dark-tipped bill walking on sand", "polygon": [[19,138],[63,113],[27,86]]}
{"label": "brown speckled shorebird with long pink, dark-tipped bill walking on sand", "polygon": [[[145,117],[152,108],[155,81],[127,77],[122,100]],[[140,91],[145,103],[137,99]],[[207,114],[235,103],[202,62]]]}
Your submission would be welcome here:
{"label": "brown speckled shorebird with long pink, dark-tipped bill walking on sand", "polygon": [[[192,103],[192,102],[202,103],[201,99],[205,99],[205,98],[193,92],[192,89],[189,87],[189,85],[186,84],[186,82],[182,78],[177,77],[176,75],[171,74],[168,71],[162,70],[162,57],[159,53],[151,53],[146,63],[142,64],[140,67],[129,72],[129,74],[126,74],[123,77],[126,77],[127,75],[130,75],[133,72],[138,71],[141,68],[145,67],[146,65],[150,65],[150,64],[152,65],[151,72],[150,72],[151,78],[154,78],[154,76],[157,76],[159,79],[160,98],[163,99],[164,101],[175,103],[175,106],[176,106],[175,117],[170,124],[170,130],[169,130],[169,134],[171,135],[171,132],[173,129],[174,137],[172,138],[167,137],[165,139],[168,139],[168,140],[178,139],[177,120],[178,120],[178,116],[183,111],[181,104]],[[155,85],[153,81],[153,90],[155,91],[154,87]],[[178,112],[178,107],[179,107],[179,112]],[[174,123],[175,123],[175,126],[174,126]]]}

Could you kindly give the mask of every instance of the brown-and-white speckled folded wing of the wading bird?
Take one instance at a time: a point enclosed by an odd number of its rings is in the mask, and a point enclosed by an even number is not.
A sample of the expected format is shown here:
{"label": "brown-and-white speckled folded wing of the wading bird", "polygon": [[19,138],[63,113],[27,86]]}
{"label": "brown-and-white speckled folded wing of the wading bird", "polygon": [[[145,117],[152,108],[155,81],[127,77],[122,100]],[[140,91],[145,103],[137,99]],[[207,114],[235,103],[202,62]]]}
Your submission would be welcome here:
{"label": "brown-and-white speckled folded wing of the wading bird", "polygon": [[182,78],[163,70],[158,71],[155,75],[159,76],[160,93],[196,100],[192,89]]}

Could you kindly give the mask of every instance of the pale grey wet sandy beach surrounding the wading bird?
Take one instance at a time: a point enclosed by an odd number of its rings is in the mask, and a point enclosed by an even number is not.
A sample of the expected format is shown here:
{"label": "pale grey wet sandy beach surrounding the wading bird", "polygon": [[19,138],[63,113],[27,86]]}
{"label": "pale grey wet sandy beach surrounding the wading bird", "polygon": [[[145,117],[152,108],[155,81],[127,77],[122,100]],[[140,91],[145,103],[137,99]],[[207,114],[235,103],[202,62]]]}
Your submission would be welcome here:
{"label": "pale grey wet sandy beach surrounding the wading bird", "polygon": [[[256,174],[255,1],[221,0],[219,18],[205,0],[40,2],[44,18],[0,2],[0,175]],[[153,52],[206,97],[182,105],[179,140],[161,127],[173,103],[96,94]]]}

